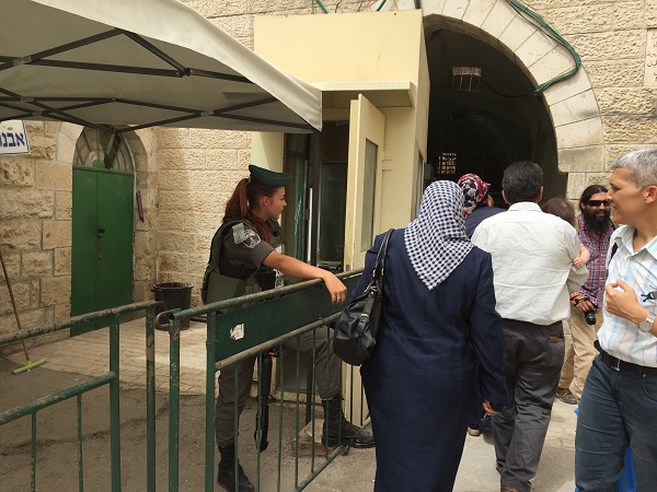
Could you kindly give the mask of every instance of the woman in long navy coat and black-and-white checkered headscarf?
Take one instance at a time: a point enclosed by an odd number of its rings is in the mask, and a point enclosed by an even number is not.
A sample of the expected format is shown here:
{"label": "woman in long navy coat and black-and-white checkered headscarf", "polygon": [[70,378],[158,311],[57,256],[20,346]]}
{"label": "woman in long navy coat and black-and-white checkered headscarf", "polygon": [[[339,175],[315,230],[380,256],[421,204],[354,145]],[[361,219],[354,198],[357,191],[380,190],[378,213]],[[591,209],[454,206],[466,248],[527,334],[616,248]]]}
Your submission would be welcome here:
{"label": "woman in long navy coat and black-and-white checkered headscarf", "polygon": [[[367,251],[356,295],[382,237]],[[503,367],[491,255],[465,235],[461,189],[436,181],[417,219],[390,238],[377,347],[360,368],[377,448],[374,491],[451,491],[474,385],[495,414],[506,401]]]}

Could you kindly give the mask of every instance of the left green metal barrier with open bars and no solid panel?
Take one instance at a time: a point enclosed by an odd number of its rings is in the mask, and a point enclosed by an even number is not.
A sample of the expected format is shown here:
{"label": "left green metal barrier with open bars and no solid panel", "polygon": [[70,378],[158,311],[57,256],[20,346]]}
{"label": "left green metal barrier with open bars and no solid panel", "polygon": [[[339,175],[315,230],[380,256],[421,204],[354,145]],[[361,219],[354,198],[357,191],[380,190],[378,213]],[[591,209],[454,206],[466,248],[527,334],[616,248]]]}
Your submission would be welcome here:
{"label": "left green metal barrier with open bars and no solid panel", "polygon": [[0,338],[0,348],[42,335],[54,333],[68,328],[92,326],[92,329],[105,328],[99,321],[110,321],[110,371],[82,384],[41,397],[30,403],[0,413],[0,425],[32,415],[31,440],[31,490],[36,490],[36,414],[39,410],[77,398],[78,402],[78,482],[79,490],[84,488],[83,442],[82,442],[82,395],[110,386],[110,455],[112,469],[112,491],[120,491],[120,399],[119,399],[119,326],[120,316],[129,313],[146,312],[146,388],[147,388],[147,489],[155,490],[155,386],[154,386],[154,308],[152,301],[129,304],[112,309],[100,311],[69,318],[45,327],[30,328]]}

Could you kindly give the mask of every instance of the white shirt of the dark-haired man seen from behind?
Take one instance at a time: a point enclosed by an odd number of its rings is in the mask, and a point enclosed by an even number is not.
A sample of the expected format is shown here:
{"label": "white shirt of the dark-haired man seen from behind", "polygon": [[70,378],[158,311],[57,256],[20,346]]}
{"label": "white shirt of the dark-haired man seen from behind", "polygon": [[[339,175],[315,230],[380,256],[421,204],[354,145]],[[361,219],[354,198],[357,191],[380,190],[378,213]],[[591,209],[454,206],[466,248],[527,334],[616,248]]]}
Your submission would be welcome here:
{"label": "white shirt of the dark-haired man seen from behind", "polygon": [[520,202],[483,221],[472,242],[493,256],[503,318],[546,326],[568,317],[568,293],[588,277],[586,267],[573,266],[579,254],[573,225],[543,213],[538,203]]}

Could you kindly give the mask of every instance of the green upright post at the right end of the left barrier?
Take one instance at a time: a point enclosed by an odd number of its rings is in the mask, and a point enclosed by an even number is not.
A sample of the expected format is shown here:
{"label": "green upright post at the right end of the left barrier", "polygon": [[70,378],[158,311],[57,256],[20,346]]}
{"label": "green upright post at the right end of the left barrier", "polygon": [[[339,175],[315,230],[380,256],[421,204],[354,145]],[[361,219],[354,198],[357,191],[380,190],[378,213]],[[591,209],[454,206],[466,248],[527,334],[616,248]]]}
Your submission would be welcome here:
{"label": "green upright post at the right end of the left barrier", "polygon": [[146,309],[146,490],[155,491],[155,323]]}

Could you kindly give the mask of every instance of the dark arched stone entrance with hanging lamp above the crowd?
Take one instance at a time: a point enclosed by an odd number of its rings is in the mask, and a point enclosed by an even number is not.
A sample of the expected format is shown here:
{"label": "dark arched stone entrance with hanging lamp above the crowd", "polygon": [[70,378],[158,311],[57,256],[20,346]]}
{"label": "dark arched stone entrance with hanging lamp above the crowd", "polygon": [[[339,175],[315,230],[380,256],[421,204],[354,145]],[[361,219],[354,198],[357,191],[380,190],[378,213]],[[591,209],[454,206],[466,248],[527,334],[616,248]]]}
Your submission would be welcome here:
{"label": "dark arched stone entrance with hanging lamp above the crowd", "polygon": [[588,78],[579,69],[534,92],[573,69],[566,47],[504,0],[427,1],[423,14],[434,177],[477,173],[495,195],[504,168],[528,159],[543,167],[546,198],[578,196],[585,176],[572,174],[603,162],[602,124]]}

